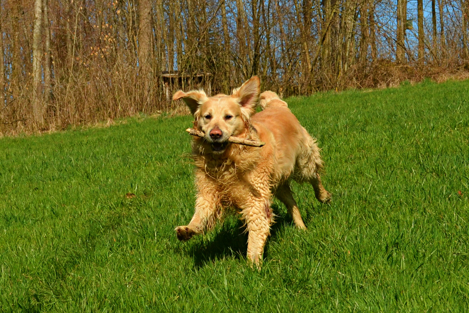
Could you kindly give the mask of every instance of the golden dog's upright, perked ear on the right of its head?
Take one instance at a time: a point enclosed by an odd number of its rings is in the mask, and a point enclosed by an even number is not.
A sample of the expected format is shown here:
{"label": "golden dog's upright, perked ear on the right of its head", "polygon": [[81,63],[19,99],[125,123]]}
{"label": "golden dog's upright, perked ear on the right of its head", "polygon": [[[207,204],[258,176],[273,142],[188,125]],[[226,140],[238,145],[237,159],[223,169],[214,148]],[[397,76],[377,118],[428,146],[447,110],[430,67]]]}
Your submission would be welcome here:
{"label": "golden dog's upright, perked ear on the right of its head", "polygon": [[241,113],[245,119],[250,119],[251,115],[256,112],[261,92],[260,85],[259,77],[252,76],[241,87],[234,89],[231,94],[232,97],[238,98],[238,102],[241,105]]}

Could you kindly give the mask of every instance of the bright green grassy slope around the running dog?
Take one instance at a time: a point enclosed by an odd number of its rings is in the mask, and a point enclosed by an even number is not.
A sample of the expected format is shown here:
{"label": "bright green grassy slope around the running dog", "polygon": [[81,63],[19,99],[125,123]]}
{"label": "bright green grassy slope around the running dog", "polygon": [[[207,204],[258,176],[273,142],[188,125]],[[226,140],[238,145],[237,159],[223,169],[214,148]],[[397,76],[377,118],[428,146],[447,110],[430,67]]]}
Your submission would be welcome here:
{"label": "bright green grassy slope around the running dog", "polygon": [[274,201],[260,272],[236,217],[176,239],[189,116],[2,138],[0,311],[468,312],[468,87],[290,98],[333,201],[294,184],[307,231]]}

